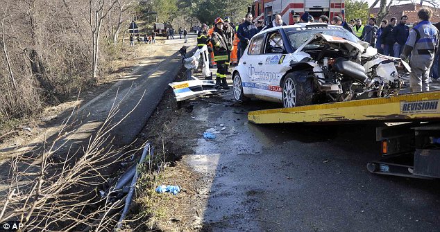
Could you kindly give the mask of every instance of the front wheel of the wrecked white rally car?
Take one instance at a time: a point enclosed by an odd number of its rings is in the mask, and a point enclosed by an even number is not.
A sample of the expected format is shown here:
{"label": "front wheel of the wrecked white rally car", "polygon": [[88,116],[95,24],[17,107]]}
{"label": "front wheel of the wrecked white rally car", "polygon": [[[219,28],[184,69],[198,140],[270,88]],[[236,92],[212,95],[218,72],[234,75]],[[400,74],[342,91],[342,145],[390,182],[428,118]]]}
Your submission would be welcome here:
{"label": "front wheel of the wrecked white rally car", "polygon": [[285,108],[312,105],[312,79],[308,73],[292,72],[286,75],[282,83],[282,106]]}

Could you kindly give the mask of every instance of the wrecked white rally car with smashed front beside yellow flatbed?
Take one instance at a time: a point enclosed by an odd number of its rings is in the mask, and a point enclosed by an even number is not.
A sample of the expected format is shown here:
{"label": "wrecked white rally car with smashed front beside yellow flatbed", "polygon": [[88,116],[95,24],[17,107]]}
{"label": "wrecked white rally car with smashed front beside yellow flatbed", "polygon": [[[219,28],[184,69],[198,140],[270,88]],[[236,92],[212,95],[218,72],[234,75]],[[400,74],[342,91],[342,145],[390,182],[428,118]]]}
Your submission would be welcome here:
{"label": "wrecked white rally car with smashed front beside yellow flatbed", "polygon": [[232,73],[233,93],[284,107],[378,98],[403,87],[397,67],[409,70],[341,26],[275,27],[249,42]]}

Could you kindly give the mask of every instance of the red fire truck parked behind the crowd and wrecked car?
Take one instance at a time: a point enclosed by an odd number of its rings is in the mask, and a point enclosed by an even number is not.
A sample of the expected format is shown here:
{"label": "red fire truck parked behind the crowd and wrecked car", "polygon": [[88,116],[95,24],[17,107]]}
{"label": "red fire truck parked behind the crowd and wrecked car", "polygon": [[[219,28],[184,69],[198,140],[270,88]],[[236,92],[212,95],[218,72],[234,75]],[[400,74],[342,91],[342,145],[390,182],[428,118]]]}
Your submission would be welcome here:
{"label": "red fire truck parked behind the crowd and wrecked car", "polygon": [[252,5],[254,21],[264,19],[269,24],[273,15],[281,15],[286,24],[294,24],[294,15],[309,12],[314,19],[327,15],[330,20],[336,15],[345,18],[345,0],[255,0]]}

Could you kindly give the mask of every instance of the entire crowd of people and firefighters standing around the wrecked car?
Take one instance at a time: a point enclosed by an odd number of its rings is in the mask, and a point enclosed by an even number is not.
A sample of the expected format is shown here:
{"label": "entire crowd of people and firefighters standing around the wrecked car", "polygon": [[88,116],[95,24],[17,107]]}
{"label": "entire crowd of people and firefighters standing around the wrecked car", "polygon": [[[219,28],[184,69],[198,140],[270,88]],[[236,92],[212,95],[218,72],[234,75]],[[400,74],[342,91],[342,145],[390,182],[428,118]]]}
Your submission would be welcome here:
{"label": "entire crowd of people and firefighters standing around the wrecked car", "polygon": [[[418,21],[412,29],[407,26],[406,15],[400,17],[397,24],[396,18],[391,18],[390,23],[387,19],[381,21],[377,26],[375,18],[371,17],[368,24],[363,25],[361,19],[344,21],[341,16],[332,17],[331,21],[326,15],[321,15],[319,21],[325,24],[342,26],[364,42],[378,49],[378,53],[400,57],[403,60],[409,58],[409,65],[412,67],[409,85],[412,91],[426,91],[429,89],[429,76],[437,80],[440,74],[439,53],[439,27],[440,23],[431,24],[432,10],[423,8],[418,10]],[[308,12],[303,15],[294,15],[294,24],[310,23],[314,21]],[[210,52],[214,53],[214,61],[217,62],[216,86],[222,89],[229,89],[226,84],[231,52],[235,37],[239,40],[237,44],[237,60],[242,57],[246,46],[251,38],[261,30],[275,26],[285,26],[280,15],[275,15],[269,25],[264,26],[262,20],[253,23],[253,16],[246,14],[241,19],[239,25],[232,26],[229,17],[225,19],[217,18],[214,21],[214,28],[209,30],[206,24],[198,31],[197,44],[199,48],[205,44],[212,44]],[[434,65],[433,65],[434,64]]]}

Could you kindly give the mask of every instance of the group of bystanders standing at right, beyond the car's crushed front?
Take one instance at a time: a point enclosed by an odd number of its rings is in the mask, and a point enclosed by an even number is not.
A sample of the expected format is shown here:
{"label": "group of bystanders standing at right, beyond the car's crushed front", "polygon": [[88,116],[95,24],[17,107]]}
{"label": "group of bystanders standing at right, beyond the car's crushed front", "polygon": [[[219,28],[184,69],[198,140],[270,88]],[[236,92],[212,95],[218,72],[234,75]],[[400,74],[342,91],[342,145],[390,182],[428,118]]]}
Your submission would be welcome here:
{"label": "group of bystanders standing at right, beyond the car's crushed front", "polygon": [[428,91],[429,81],[439,78],[439,30],[440,23],[431,24],[432,10],[423,8],[417,12],[420,21],[412,28],[407,26],[407,15],[398,19],[384,19],[380,27],[376,19],[370,18],[369,24],[362,25],[360,19],[350,20],[353,34],[378,49],[378,53],[403,60],[409,59],[411,73],[409,86],[412,91]]}

